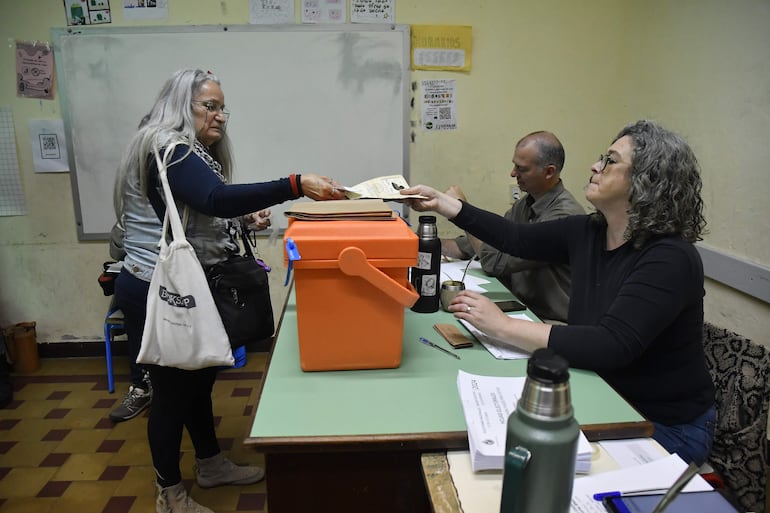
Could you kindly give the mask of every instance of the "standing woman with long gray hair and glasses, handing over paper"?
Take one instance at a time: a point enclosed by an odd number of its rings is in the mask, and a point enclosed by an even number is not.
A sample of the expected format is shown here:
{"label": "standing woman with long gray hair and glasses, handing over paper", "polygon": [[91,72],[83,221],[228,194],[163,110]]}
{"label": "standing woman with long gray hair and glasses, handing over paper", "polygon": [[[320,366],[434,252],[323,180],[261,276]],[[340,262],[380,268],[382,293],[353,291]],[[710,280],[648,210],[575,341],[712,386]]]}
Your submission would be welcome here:
{"label": "standing woman with long gray hair and glasses, handing over paper", "polygon": [[[180,70],[161,89],[121,162],[114,199],[117,218],[125,227],[126,256],[115,284],[115,301],[125,315],[129,344],[133,341],[138,346],[142,340],[147,293],[167,207],[177,208],[180,217],[187,217],[187,239],[206,269],[238,250],[230,235],[231,218],[244,218],[247,225],[262,228],[267,224],[265,209],[272,205],[301,196],[344,198],[333,180],[314,174],[228,183],[233,160],[226,131],[228,116],[215,75]],[[176,205],[166,205],[163,200],[154,157],[170,145],[176,149],[167,162],[167,176]],[[182,483],[179,460],[184,429],[195,450],[198,486],[245,485],[263,478],[261,468],[236,465],[220,450],[211,401],[216,367],[146,368],[153,387],[147,435],[158,487],[158,513],[211,513],[188,495]]]}

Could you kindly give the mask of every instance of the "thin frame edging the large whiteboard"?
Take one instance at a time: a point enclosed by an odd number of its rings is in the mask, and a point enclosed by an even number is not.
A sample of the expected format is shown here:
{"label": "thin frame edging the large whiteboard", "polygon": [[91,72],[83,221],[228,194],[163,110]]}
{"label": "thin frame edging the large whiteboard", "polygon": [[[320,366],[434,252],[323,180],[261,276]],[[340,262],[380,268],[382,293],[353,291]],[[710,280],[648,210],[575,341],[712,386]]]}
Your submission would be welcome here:
{"label": "thin frame edging the large whiteboard", "polygon": [[[64,120],[64,129],[70,164],[70,182],[72,185],[72,195],[74,201],[75,218],[78,231],[78,239],[88,240],[108,240],[109,232],[87,233],[84,230],[84,212],[82,205],[80,188],[78,187],[78,170],[75,165],[76,155],[72,137],[71,116],[68,109],[68,97],[72,94],[68,91],[68,84],[61,77],[66,76],[61,68],[65,59],[62,57],[61,43],[64,38],[77,37],[78,35],[141,35],[141,34],[175,34],[175,33],[212,33],[212,32],[398,32],[403,38],[402,56],[401,56],[401,90],[403,95],[402,104],[402,169],[403,175],[409,180],[409,143],[410,143],[410,100],[411,100],[411,71],[410,71],[410,27],[409,25],[394,24],[334,24],[334,25],[195,25],[195,26],[141,26],[141,27],[69,27],[52,28],[52,40],[54,41],[54,55],[56,58],[57,88],[60,93],[60,106],[62,118]],[[162,82],[162,77],[159,79]],[[227,84],[224,84],[227,87]],[[149,106],[148,106],[149,107]],[[138,119],[137,115],[137,119]],[[127,141],[126,141],[127,143]],[[237,148],[235,148],[237,151]],[[117,163],[116,166],[117,168]],[[367,177],[368,178],[368,177]],[[354,185],[354,184],[346,184]],[[111,191],[110,191],[111,193]],[[110,196],[110,204],[112,198]]]}

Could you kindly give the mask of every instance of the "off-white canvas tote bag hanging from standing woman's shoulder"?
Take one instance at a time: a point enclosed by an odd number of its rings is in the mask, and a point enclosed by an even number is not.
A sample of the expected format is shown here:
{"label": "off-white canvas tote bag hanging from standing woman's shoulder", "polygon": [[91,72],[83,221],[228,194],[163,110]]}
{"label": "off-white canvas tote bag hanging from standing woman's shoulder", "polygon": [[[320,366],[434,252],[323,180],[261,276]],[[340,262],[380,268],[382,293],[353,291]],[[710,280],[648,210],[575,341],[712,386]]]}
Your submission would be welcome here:
{"label": "off-white canvas tote bag hanging from standing woman's shoulder", "polygon": [[[166,162],[173,146],[155,162],[163,184],[166,215],[160,237],[158,263],[147,295],[147,318],[137,363],[194,370],[232,366],[230,341],[211,297],[195,249],[187,241],[166,176]],[[166,241],[171,224],[173,239]]]}

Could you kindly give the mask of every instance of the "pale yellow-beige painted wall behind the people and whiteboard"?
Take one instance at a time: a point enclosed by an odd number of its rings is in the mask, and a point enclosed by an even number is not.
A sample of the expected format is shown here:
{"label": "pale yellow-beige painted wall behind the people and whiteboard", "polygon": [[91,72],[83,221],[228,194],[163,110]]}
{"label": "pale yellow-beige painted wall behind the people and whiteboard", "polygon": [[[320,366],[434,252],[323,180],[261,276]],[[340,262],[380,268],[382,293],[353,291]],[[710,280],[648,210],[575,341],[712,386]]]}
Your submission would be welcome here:
{"label": "pale yellow-beige painted wall behind the people and whiteboard", "polygon": [[[6,43],[49,41],[50,28],[64,24],[60,0],[6,4]],[[133,25],[123,22],[120,3],[112,4],[113,24]],[[169,25],[248,21],[244,0],[169,4]],[[412,183],[459,184],[472,202],[503,211],[513,143],[548,129],[565,145],[564,180],[582,199],[589,167],[615,133],[650,117],[686,136],[701,160],[706,242],[770,266],[767,0],[396,0],[396,21],[473,27],[470,73],[413,73],[416,81],[457,79],[459,129],[415,129]],[[10,44],[0,50],[0,105],[13,111],[29,215],[0,217],[0,325],[37,321],[42,342],[97,340],[109,302],[96,283],[107,244],[77,240],[68,174],[33,172],[28,120],[60,118],[59,99],[17,98],[13,55]],[[418,117],[415,110],[412,119]],[[440,231],[457,233],[445,221]],[[280,305],[281,248],[267,241],[260,248],[276,269],[272,290]],[[710,280],[706,290],[708,320],[770,344],[770,305]]]}

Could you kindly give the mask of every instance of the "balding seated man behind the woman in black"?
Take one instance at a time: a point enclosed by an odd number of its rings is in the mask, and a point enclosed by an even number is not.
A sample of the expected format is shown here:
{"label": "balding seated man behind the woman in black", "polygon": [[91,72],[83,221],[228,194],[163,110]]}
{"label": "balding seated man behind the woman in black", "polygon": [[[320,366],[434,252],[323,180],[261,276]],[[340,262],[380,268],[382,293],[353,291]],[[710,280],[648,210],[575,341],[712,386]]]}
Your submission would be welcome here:
{"label": "balding seated man behind the woman in black", "polygon": [[[527,194],[514,203],[505,217],[519,223],[539,223],[584,214],[583,207],[562,184],[563,166],[564,148],[550,132],[533,132],[516,143],[511,177],[516,178],[519,188]],[[451,188],[448,193],[465,200],[459,187]],[[538,317],[566,322],[569,266],[501,253],[469,234],[442,239],[441,250],[452,258],[478,256],[484,272],[498,278]]]}

